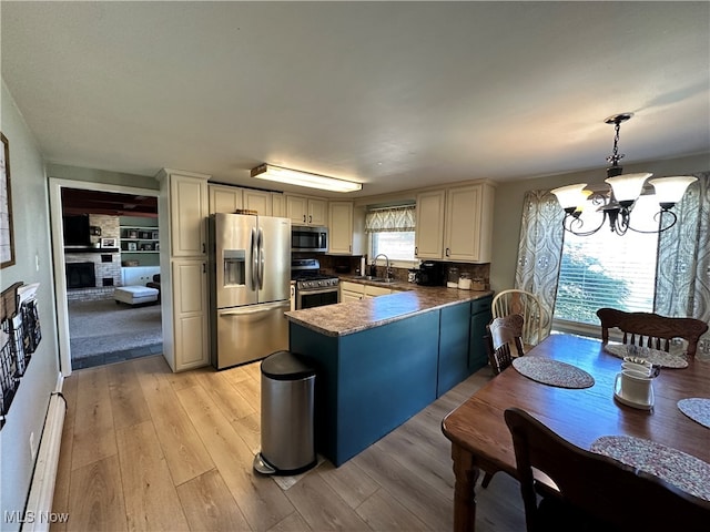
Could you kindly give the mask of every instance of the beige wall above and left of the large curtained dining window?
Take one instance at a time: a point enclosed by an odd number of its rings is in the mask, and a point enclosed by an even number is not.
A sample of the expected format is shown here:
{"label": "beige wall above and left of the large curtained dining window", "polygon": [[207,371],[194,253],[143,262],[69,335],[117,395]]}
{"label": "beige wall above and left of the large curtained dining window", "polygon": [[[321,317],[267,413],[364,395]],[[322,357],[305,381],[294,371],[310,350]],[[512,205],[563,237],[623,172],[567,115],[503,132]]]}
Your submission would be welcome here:
{"label": "beige wall above and left of the large curtained dining window", "polygon": [[[623,164],[623,172],[652,172],[655,177],[687,175],[710,170],[710,154],[639,164]],[[572,174],[549,175],[534,180],[498,183],[494,209],[493,259],[490,262],[490,287],[496,290],[513,288],[518,259],[523,197],[527,191],[551,190],[575,183],[604,184],[604,167]]]}

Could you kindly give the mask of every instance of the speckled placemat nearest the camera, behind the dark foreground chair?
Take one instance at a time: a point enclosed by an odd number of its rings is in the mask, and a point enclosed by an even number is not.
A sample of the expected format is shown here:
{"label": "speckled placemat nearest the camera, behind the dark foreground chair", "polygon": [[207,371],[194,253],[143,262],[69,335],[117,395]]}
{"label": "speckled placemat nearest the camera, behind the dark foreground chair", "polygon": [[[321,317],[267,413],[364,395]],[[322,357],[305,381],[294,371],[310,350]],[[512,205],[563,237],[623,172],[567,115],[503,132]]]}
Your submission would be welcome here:
{"label": "speckled placemat nearest the camera, behind the dark foreground chair", "polygon": [[602,436],[589,450],[646,471],[692,495],[710,501],[710,463],[686,452],[630,436]]}

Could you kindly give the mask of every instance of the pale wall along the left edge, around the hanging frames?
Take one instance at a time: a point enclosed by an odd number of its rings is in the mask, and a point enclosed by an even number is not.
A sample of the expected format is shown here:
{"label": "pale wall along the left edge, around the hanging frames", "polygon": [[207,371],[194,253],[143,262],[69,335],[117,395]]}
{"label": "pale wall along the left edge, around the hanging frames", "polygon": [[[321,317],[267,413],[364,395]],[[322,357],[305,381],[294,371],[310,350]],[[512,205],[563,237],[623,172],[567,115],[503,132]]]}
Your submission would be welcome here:
{"label": "pale wall along the left edge, around the hanging frames", "polygon": [[[4,81],[0,127],[10,145],[16,264],[0,270],[0,289],[19,280],[40,283],[38,307],[42,340],[20,381],[8,420],[0,430],[0,530],[19,530],[7,512],[21,512],[34,463],[30,433],[39,446],[50,393],[59,377],[49,197],[42,156]],[[39,266],[38,266],[39,265]]]}

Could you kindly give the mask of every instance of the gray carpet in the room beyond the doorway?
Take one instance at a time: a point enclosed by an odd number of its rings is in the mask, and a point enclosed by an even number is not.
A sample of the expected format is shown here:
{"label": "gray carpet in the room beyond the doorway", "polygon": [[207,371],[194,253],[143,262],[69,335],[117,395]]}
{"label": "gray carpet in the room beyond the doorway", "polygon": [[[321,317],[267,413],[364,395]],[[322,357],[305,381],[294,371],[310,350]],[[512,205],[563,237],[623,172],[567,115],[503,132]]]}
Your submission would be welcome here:
{"label": "gray carpet in the room beyond the doorway", "polygon": [[162,344],[160,305],[69,301],[69,338],[72,359]]}

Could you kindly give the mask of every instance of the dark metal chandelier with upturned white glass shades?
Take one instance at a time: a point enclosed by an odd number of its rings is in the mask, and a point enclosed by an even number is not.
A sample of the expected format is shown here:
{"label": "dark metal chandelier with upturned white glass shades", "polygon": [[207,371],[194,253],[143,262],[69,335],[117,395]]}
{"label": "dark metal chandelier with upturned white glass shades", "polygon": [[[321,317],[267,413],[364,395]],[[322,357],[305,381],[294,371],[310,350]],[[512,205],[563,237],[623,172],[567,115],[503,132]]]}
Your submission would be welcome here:
{"label": "dark metal chandelier with upturned white glass shades", "polygon": [[[660,211],[656,213],[653,219],[658,222],[658,229],[641,231],[631,227],[631,212],[636,201],[641,195],[646,180],[651,175],[649,173],[623,174],[623,168],[619,166],[619,161],[623,157],[619,153],[619,130],[621,124],[633,116],[633,113],[621,113],[609,116],[605,120],[607,124],[613,124],[613,152],[607,157],[611,166],[607,168],[606,183],[610,185],[608,192],[592,192],[585,187],[587,183],[560,186],[555,188],[552,194],[557,196],[557,201],[565,209],[565,218],[562,225],[565,231],[574,233],[578,236],[589,236],[597,233],[607,223],[612,233],[623,235],[628,229],[637,233],[662,233],[670,229],[678,217],[671,208],[680,201],[686,193],[686,188],[697,177],[688,175],[679,175],[673,177],[660,177],[650,180],[653,185],[656,197],[660,205]],[[590,201],[594,205],[599,205],[597,212],[602,214],[601,223],[594,229],[584,229],[584,222],[580,218],[582,206]]]}

